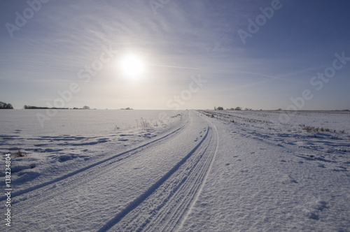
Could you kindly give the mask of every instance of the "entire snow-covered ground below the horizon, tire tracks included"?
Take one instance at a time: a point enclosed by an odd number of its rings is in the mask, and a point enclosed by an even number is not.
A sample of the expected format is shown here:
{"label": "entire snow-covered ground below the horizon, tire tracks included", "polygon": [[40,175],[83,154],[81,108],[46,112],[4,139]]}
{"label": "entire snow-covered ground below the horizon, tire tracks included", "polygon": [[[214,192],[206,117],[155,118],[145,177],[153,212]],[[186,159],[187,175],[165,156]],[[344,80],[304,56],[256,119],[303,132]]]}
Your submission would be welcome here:
{"label": "entire snow-covered ground below the horizon, tire tracks included", "polygon": [[350,231],[349,113],[38,112],[0,112],[0,231]]}

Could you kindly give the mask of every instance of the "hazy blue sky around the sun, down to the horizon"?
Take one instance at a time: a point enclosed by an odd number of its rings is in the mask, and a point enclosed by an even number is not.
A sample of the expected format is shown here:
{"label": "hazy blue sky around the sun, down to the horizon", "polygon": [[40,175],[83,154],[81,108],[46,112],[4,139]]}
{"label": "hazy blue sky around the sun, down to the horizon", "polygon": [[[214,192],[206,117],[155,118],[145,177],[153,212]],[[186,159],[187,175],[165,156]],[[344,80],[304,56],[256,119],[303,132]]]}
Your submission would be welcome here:
{"label": "hazy blue sky around the sun, down to the horizon", "polygon": [[[349,1],[46,1],[0,3],[0,101],[15,108],[350,109],[350,61],[312,79],[350,57]],[[137,77],[120,71],[130,54]]]}

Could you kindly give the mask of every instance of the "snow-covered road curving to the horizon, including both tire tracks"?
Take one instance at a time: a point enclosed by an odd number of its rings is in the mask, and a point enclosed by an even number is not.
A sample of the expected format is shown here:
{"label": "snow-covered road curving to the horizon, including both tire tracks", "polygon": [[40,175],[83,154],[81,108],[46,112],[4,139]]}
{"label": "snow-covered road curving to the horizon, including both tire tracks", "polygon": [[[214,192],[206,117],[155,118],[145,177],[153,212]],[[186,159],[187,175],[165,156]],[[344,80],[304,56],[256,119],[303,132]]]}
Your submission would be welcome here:
{"label": "snow-covered road curving to the horizon, including both tire tracks", "polygon": [[[176,231],[197,201],[218,147],[215,126],[198,115],[193,123],[193,112],[188,113],[184,126],[162,138],[16,196],[15,228]],[[96,196],[102,196],[104,208],[92,206]],[[103,216],[96,222],[99,212]],[[43,227],[45,222],[36,224],[36,218],[50,218],[50,229]]]}

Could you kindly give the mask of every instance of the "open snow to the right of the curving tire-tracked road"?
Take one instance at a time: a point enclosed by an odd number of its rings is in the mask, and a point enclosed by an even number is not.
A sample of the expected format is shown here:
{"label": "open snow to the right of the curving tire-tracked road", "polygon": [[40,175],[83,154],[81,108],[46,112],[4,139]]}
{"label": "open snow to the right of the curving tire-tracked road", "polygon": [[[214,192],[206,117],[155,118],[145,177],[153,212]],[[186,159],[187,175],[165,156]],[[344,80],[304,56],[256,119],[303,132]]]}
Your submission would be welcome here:
{"label": "open snow to the right of the curving tire-tracked road", "polygon": [[325,126],[349,132],[349,114],[300,113],[276,130],[276,112],[211,114],[218,155],[186,231],[349,230],[349,133],[292,129],[328,118]]}

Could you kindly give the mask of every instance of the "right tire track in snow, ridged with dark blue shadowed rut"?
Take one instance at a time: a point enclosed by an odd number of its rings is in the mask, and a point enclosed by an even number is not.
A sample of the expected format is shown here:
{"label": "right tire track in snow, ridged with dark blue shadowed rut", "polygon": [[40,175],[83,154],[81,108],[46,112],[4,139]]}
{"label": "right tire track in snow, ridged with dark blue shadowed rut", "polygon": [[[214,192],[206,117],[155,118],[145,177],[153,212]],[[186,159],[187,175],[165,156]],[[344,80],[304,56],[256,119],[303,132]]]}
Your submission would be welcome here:
{"label": "right tire track in snow, ridged with dark blue shadowed rut", "polygon": [[216,157],[218,133],[211,125],[186,157],[99,231],[174,231],[179,228],[197,201]]}

